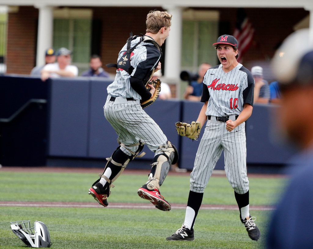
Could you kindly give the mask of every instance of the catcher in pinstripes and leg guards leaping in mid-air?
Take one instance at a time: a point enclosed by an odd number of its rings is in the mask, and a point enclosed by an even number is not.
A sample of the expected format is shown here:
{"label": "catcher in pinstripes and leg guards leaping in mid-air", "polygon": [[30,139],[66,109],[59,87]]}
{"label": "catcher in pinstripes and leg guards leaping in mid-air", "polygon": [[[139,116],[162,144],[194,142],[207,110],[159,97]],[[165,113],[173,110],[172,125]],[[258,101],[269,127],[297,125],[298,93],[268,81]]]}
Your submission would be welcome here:
{"label": "catcher in pinstripes and leg guards leaping in mid-air", "polygon": [[141,198],[151,201],[156,208],[171,210],[171,205],[160,195],[160,186],[170,164],[177,162],[178,153],[156,122],[142,109],[146,100],[156,92],[151,84],[148,84],[148,90],[146,83],[155,71],[161,69],[160,46],[169,35],[171,18],[172,15],[167,12],[148,13],[146,34],[141,37],[131,34],[118,55],[117,64],[107,65],[117,70],[113,83],[107,88],[104,115],[118,135],[119,146],[107,158],[100,179],[89,189],[89,194],[102,206],[108,206],[110,187],[114,187],[112,182],[131,160],[144,154],[139,155],[146,144],[155,156],[148,181],[137,193]]}

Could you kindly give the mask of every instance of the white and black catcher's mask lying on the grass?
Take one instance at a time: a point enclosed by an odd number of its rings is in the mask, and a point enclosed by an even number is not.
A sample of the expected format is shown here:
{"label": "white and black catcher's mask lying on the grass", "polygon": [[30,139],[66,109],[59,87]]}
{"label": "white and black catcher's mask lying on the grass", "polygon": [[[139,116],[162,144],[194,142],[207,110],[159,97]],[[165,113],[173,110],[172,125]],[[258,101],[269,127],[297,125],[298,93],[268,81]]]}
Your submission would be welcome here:
{"label": "white and black catcher's mask lying on the grass", "polygon": [[30,227],[29,221],[12,221],[11,229],[27,246],[50,247],[50,235],[47,226],[41,221],[35,221]]}

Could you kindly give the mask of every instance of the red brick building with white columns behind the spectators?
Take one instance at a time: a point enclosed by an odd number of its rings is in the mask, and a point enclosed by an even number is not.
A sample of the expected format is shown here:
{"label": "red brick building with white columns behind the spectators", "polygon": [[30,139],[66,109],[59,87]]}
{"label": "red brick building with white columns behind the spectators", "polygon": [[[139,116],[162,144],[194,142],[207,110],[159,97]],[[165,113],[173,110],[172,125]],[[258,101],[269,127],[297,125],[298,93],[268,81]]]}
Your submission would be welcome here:
{"label": "red brick building with white columns behind the spectators", "polygon": [[[238,9],[218,6],[200,8],[197,6],[199,4],[194,3],[193,8],[92,6],[96,3],[87,2],[86,5],[91,6],[71,4],[51,7],[50,3],[53,32],[49,32],[52,34],[47,42],[47,39],[43,38],[43,30],[46,30],[47,25],[40,26],[45,25],[41,20],[46,19],[41,19],[45,17],[40,17],[39,14],[45,5],[36,8],[31,4],[34,1],[25,2],[29,2],[28,6],[9,8],[7,73],[29,74],[36,64],[43,63],[43,51],[50,46],[49,43],[55,49],[61,45],[72,49],[73,64],[76,64],[80,71],[88,67],[89,56],[94,53],[100,54],[103,64],[115,62],[130,31],[138,35],[145,33],[146,14],[154,9],[168,9],[173,14],[173,20],[170,37],[163,48],[162,72],[170,84],[176,85],[182,69],[196,70],[198,65],[205,61],[218,63],[212,43],[221,34],[233,34]],[[301,6],[301,3],[298,4]],[[295,25],[309,15],[310,12],[303,7],[244,8],[255,30],[253,42],[243,57],[243,64],[248,69],[255,63],[269,62],[279,43],[294,31]],[[105,70],[111,74],[115,72],[114,69]],[[177,94],[179,95],[179,90]]]}

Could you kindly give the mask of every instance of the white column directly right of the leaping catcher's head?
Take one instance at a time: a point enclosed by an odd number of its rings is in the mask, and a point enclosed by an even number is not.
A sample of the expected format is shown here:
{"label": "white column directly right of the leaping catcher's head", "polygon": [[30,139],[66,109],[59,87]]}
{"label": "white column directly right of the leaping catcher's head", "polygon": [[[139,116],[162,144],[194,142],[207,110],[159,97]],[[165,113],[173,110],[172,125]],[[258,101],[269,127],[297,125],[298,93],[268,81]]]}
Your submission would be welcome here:
{"label": "white column directly right of the leaping catcher's head", "polygon": [[182,47],[182,8],[163,6],[172,14],[172,26],[165,48],[165,78],[167,83],[176,84],[176,98],[180,97],[181,47]]}

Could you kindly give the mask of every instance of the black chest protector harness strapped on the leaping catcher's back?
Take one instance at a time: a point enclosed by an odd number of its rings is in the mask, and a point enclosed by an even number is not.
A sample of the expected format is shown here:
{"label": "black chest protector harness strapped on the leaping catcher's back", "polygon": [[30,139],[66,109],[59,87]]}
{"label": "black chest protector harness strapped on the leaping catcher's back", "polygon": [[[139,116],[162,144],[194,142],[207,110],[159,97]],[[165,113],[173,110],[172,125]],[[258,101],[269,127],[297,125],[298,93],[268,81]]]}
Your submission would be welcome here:
{"label": "black chest protector harness strapped on the leaping catcher's back", "polygon": [[[114,63],[110,63],[110,64],[106,64],[106,66],[108,68],[117,68],[117,70],[125,70],[128,74],[131,75],[131,73],[133,72],[134,68],[131,66],[131,57],[134,55],[133,51],[135,50],[135,48],[143,41],[143,42],[150,42],[153,45],[156,46],[156,48],[160,51],[161,53],[161,57],[162,57],[162,50],[159,46],[159,44],[157,44],[151,37],[143,35],[141,36],[141,38],[139,39],[139,42],[135,44],[135,46],[133,46],[131,48],[131,41],[138,38],[138,35],[133,36],[132,32],[130,33],[130,37],[127,39],[127,50],[126,52],[123,53],[123,56],[118,60],[117,64]],[[157,63],[158,64],[158,63]],[[150,79],[151,74],[154,73],[154,69],[151,70],[151,72],[149,72],[149,75],[147,75],[148,79],[143,79],[144,82],[146,82],[147,80]]]}

